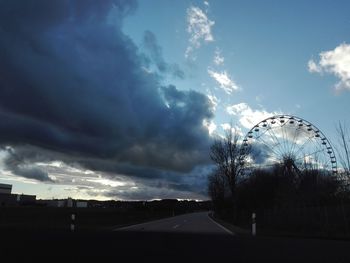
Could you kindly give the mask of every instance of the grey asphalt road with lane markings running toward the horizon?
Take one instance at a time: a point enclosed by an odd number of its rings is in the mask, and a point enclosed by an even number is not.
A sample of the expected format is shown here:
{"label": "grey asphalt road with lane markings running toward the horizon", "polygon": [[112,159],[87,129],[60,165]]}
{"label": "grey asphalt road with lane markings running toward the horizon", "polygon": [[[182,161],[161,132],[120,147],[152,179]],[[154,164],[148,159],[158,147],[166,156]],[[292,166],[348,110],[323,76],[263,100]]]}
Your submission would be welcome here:
{"label": "grey asphalt road with lane markings running toward the horizon", "polygon": [[144,224],[117,228],[114,231],[144,231],[144,232],[175,232],[175,233],[200,233],[200,234],[224,234],[233,233],[216,223],[208,215],[208,212],[191,213],[156,220]]}

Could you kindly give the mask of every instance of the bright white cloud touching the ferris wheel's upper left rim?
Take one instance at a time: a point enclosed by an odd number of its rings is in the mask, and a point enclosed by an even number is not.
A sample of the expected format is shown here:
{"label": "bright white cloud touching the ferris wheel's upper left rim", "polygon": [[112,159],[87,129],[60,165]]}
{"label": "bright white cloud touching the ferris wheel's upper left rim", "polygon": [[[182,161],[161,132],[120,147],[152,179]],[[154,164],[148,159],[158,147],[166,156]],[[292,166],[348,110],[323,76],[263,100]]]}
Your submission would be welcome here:
{"label": "bright white cloud touching the ferris wheel's upper left rim", "polygon": [[268,117],[279,114],[278,112],[268,112],[265,109],[253,110],[247,103],[228,106],[226,111],[230,115],[237,116],[240,124],[247,129],[251,129],[254,125]]}

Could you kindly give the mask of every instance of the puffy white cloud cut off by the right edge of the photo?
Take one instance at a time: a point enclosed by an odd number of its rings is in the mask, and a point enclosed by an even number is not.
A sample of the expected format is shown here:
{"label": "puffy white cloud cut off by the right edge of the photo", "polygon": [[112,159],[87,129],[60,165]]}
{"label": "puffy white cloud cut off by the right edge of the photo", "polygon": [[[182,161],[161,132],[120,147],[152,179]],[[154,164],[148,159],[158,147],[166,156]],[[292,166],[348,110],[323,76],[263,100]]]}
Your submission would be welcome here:
{"label": "puffy white cloud cut off by the right edge of the photo", "polygon": [[333,50],[320,53],[318,63],[310,60],[308,68],[310,72],[330,73],[339,78],[335,85],[336,90],[350,90],[350,45],[343,43]]}

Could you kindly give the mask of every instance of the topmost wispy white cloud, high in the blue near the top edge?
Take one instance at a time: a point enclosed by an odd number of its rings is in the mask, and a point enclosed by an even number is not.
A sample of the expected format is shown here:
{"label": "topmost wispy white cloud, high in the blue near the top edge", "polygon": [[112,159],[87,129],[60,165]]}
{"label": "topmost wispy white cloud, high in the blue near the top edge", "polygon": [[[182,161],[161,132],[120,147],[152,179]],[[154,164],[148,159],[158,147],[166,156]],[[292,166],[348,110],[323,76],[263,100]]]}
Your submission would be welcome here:
{"label": "topmost wispy white cloud, high in the blue near the top edge", "polygon": [[214,41],[211,32],[214,21],[208,19],[205,12],[199,7],[191,6],[187,9],[187,32],[190,34],[190,45],[186,49],[185,57],[201,46],[202,42]]}

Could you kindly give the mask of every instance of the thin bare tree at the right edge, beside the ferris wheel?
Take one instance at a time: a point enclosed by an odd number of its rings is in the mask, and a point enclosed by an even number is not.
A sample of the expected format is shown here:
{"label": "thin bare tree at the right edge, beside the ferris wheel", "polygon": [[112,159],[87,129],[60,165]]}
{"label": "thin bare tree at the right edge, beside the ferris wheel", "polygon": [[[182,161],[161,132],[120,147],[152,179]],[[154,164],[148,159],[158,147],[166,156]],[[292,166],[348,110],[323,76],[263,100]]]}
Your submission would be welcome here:
{"label": "thin bare tree at the right edge, beside the ferris wheel", "polygon": [[350,134],[345,123],[338,123],[336,127],[338,134],[338,145],[336,147],[339,163],[344,169],[344,175],[347,181],[350,180]]}

